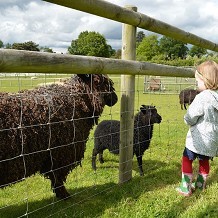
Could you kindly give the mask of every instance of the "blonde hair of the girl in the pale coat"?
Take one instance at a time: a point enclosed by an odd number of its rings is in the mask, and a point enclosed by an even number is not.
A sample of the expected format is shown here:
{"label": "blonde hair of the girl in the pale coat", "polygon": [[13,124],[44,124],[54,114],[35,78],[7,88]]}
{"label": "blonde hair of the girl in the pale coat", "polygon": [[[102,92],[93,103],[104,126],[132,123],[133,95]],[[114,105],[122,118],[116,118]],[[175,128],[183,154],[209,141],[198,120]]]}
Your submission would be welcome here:
{"label": "blonde hair of the girl in the pale coat", "polygon": [[205,61],[198,65],[196,70],[207,89],[218,89],[218,65],[215,61]]}

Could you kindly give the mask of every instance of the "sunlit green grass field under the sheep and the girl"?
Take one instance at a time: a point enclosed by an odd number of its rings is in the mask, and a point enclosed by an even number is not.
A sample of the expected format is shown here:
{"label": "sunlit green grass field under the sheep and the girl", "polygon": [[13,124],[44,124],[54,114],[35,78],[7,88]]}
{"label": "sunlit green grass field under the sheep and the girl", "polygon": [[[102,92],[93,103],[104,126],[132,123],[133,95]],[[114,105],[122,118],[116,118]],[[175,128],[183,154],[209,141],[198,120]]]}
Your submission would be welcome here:
{"label": "sunlit green grass field under the sheep and the girl", "polygon": [[[120,96],[119,78],[112,79]],[[39,83],[39,80],[34,82]],[[11,90],[9,87],[6,91]],[[143,77],[137,77],[135,112],[141,104],[155,105],[163,119],[160,125],[155,125],[150,148],[143,156],[143,177],[139,176],[134,157],[132,180],[119,185],[119,158],[108,151],[104,152],[105,163],[101,165],[97,161],[97,171],[93,172],[93,130],[82,167],[74,169],[67,179],[66,187],[72,195],[71,199],[56,199],[50,182],[35,175],[0,189],[0,217],[217,217],[216,158],[211,162],[208,187],[204,192],[197,190],[191,197],[185,198],[175,191],[181,179],[180,161],[188,130],[183,122],[185,111],[180,108],[178,95],[143,94]],[[119,112],[120,99],[114,107],[105,107],[100,120],[119,119]],[[197,161],[194,168],[197,173]]]}

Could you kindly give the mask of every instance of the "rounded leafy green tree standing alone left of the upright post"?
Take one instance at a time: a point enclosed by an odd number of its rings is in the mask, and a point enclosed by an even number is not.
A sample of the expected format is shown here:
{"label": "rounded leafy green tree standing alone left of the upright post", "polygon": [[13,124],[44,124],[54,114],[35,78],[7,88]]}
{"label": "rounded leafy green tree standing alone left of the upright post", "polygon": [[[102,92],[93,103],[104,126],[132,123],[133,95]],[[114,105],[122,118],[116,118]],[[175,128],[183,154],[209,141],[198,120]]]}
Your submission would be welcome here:
{"label": "rounded leafy green tree standing alone left of the upright post", "polygon": [[74,55],[110,57],[114,50],[100,33],[84,31],[79,34],[78,39],[72,40],[68,52]]}

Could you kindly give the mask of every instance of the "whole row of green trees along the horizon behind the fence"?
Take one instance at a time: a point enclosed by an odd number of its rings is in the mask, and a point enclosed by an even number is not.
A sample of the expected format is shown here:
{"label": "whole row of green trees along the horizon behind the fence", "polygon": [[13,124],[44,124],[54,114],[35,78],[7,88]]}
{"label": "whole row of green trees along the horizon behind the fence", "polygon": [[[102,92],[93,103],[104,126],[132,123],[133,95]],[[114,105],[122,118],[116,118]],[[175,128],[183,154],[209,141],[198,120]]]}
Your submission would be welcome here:
{"label": "whole row of green trees along the horizon behind the fence", "polygon": [[[0,48],[50,52],[49,47],[40,47],[32,41],[24,43],[5,44],[0,40]],[[115,50],[107,44],[106,38],[95,31],[81,32],[77,39],[71,41],[68,54],[96,56],[106,58],[121,58],[121,49]],[[143,31],[136,35],[136,58],[138,61],[169,64],[175,66],[193,66],[199,59],[217,58],[216,52],[208,52],[196,45],[187,44],[167,36],[145,34]]]}

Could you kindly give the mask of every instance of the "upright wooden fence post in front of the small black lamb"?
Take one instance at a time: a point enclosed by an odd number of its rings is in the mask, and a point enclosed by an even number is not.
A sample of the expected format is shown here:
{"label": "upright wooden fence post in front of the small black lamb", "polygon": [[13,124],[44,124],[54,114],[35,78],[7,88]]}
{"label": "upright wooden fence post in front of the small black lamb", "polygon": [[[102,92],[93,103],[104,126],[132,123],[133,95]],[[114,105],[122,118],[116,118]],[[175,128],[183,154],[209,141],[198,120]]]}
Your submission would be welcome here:
{"label": "upright wooden fence post in front of the small black lamb", "polygon": [[[126,8],[137,11],[134,6]],[[136,59],[136,27],[123,24],[122,59]],[[119,183],[132,178],[135,76],[121,75]]]}

